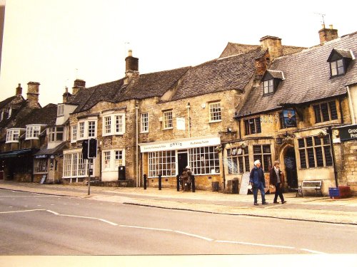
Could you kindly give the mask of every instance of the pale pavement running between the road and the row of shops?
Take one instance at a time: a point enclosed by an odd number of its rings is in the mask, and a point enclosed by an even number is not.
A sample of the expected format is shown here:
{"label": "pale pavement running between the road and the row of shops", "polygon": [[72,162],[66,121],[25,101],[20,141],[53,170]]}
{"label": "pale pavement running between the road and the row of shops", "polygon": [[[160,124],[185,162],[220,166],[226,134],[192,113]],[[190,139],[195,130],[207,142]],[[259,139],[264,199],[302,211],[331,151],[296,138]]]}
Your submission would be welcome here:
{"label": "pale pavement running between the road and the row of shops", "polygon": [[[266,194],[268,205],[253,206],[253,195],[223,194],[196,190],[177,192],[176,189],[143,187],[88,187],[82,184],[38,184],[0,181],[0,189],[66,197],[88,198],[122,204],[150,206],[161,209],[180,209],[214,214],[261,216],[298,221],[357,225],[357,197],[296,197],[284,193],[286,204],[273,204],[273,194]],[[258,201],[261,196],[258,195]],[[280,199],[278,199],[279,201]]]}

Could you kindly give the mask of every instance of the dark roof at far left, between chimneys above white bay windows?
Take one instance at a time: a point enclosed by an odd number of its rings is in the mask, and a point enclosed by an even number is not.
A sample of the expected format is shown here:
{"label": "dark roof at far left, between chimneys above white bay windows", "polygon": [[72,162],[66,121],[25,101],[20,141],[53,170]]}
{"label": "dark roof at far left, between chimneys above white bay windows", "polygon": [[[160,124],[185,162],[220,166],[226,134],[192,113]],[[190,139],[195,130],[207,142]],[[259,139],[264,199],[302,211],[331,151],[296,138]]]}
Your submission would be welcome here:
{"label": "dark roof at far left, between chimneys above white bay windows", "polygon": [[31,124],[56,125],[57,105],[48,104],[44,108],[31,110],[25,117],[19,118],[14,127],[25,128]]}

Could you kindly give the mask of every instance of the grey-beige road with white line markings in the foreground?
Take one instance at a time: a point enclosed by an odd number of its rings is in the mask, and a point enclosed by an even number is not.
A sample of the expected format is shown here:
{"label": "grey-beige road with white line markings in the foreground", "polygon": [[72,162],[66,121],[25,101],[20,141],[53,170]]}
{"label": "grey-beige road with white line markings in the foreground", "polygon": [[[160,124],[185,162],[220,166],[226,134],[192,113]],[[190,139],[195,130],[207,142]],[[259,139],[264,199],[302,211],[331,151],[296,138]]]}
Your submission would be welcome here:
{"label": "grey-beige road with white line markings in the foreground", "polygon": [[357,226],[0,190],[0,255],[357,253]]}

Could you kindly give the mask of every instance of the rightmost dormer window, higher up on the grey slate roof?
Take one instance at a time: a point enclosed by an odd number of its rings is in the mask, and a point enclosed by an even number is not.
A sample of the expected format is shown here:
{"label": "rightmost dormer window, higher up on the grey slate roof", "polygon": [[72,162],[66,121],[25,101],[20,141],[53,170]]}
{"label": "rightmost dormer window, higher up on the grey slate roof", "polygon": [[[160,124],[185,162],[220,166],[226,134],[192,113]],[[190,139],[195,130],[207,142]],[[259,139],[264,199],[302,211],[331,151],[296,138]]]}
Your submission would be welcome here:
{"label": "rightmost dormer window, higher up on the grey slate roof", "polygon": [[351,50],[332,49],[327,60],[330,63],[331,78],[344,75],[353,59]]}

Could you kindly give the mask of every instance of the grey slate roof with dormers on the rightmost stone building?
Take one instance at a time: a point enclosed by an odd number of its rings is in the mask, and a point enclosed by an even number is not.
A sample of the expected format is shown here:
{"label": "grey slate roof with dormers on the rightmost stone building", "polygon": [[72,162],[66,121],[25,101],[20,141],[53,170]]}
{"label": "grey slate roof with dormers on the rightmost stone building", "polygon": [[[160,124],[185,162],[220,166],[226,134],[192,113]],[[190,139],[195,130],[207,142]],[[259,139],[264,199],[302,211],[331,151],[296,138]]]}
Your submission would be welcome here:
{"label": "grey slate roof with dormers on the rightmost stone building", "polygon": [[346,85],[357,83],[357,64],[353,60],[345,75],[330,78],[327,62],[333,48],[353,51],[357,55],[357,32],[276,58],[269,69],[283,71],[285,80],[275,93],[263,95],[263,84],[251,91],[238,115],[255,114],[279,108],[279,103],[309,103],[346,94]]}

